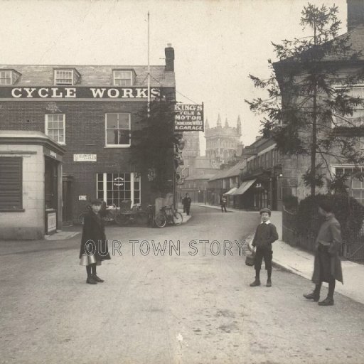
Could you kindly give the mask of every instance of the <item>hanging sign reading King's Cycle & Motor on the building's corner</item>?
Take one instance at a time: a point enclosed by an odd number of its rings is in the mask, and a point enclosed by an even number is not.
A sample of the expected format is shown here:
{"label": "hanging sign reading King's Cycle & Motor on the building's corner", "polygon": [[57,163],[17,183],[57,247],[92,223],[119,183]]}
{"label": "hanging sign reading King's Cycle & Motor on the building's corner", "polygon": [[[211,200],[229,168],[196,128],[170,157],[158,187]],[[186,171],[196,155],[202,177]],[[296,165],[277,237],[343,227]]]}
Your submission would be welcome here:
{"label": "hanging sign reading King's Cycle & Motor on the building's corner", "polygon": [[203,132],[203,105],[175,105],[176,132]]}

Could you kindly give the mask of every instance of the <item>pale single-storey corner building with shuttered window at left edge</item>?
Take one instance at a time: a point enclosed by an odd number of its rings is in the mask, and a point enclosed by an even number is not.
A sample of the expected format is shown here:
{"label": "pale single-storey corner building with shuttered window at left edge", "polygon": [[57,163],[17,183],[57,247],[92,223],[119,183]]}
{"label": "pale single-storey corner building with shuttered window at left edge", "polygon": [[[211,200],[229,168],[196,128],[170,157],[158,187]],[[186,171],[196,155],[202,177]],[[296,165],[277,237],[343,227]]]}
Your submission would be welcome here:
{"label": "pale single-storey corner building with shuttered window at left edge", "polygon": [[43,239],[62,228],[63,154],[42,132],[0,131],[0,239]]}

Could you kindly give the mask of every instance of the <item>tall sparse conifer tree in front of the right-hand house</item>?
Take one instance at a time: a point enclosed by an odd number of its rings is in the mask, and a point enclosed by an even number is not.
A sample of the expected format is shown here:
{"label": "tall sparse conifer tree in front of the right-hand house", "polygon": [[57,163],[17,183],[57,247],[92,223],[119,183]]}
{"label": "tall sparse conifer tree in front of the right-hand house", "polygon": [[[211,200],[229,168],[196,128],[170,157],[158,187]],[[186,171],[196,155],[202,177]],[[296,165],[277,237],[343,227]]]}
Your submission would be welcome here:
{"label": "tall sparse conifer tree in front of the right-hand house", "polygon": [[[277,142],[282,154],[310,158],[304,183],[315,195],[323,186],[325,168],[331,175],[331,159],[362,164],[353,111],[363,99],[350,93],[351,87],[363,82],[360,52],[350,44],[350,33],[338,36],[341,22],[336,6],[308,4],[301,12],[301,26],[310,36],[293,41],[272,43],[278,61],[269,66],[272,75],[266,80],[250,75],[252,82],[268,92],[268,97],[245,100],[250,109],[262,114],[262,134]],[[350,72],[343,72],[343,64]],[[358,130],[361,129],[361,130]]]}

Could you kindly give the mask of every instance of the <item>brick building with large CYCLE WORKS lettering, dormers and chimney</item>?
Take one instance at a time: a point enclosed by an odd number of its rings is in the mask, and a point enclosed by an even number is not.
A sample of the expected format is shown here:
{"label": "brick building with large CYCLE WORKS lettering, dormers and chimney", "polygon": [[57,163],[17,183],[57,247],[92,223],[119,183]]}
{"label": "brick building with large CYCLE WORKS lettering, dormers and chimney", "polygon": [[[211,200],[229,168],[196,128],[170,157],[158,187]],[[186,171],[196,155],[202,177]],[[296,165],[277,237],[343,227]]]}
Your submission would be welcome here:
{"label": "brick building with large CYCLE WORKS lettering, dormers and chimney", "polygon": [[[150,68],[151,100],[175,99],[174,50],[165,52],[166,65]],[[130,150],[147,100],[146,66],[0,65],[0,129],[43,132],[65,149],[63,221],[75,221],[90,198],[154,202]]]}

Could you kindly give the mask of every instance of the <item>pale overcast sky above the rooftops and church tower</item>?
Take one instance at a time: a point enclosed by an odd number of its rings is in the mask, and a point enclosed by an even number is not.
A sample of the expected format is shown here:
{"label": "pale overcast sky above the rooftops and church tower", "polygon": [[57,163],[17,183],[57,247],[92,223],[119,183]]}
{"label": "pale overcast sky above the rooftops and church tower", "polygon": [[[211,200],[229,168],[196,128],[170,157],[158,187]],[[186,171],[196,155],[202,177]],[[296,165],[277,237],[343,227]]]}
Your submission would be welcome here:
{"label": "pale overcast sky above the rooftops and church tower", "polygon": [[[333,1],[311,0],[332,5]],[[346,0],[335,1],[346,31]],[[301,0],[0,0],[1,64],[146,65],[150,11],[151,64],[175,49],[177,100],[205,104],[215,126],[220,113],[242,142],[258,135],[259,118],[244,99],[257,95],[249,73],[269,75],[271,41],[303,35]],[[181,95],[182,94],[182,95]],[[205,154],[200,133],[201,154]]]}

